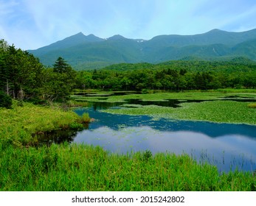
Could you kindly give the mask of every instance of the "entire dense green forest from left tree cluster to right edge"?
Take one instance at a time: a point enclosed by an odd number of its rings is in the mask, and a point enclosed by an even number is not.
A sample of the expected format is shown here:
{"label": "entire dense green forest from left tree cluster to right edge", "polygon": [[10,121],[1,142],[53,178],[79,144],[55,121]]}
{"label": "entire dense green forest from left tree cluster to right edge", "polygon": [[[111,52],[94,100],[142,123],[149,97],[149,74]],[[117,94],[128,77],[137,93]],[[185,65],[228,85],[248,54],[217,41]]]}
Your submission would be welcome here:
{"label": "entire dense green forest from left tree cluster to right edge", "polygon": [[[256,88],[256,63],[173,60],[166,63],[120,63],[91,71],[75,71],[62,57],[45,67],[27,51],[0,41],[0,103],[10,97],[32,102],[65,102],[74,89],[209,90]],[[8,97],[9,96],[9,97]],[[8,100],[9,98],[9,100]],[[5,100],[4,100],[5,99]]]}

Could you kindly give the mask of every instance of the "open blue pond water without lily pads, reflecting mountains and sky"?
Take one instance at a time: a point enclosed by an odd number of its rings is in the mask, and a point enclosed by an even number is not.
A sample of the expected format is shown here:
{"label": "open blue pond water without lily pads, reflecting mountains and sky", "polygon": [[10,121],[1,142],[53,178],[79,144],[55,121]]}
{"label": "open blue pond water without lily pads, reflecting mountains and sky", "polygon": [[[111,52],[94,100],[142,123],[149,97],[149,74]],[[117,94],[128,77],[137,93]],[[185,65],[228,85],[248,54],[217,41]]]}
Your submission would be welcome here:
{"label": "open blue pond water without lily pads, reflecting mountains and sky", "polygon": [[[139,104],[139,101],[131,100],[128,103]],[[179,107],[176,100],[159,104],[167,106],[170,102]],[[218,166],[220,171],[235,168],[243,171],[256,169],[256,126],[215,124],[205,121],[170,121],[165,118],[153,120],[150,116],[115,115],[102,111],[108,107],[119,107],[121,104],[124,103],[91,102],[89,107],[76,109],[77,114],[89,113],[95,121],[83,131],[69,131],[66,135],[55,134],[54,137],[46,135],[44,140],[57,143],[86,143],[102,146],[109,152],[120,154],[147,149],[153,154],[187,153],[198,161],[207,161]]]}

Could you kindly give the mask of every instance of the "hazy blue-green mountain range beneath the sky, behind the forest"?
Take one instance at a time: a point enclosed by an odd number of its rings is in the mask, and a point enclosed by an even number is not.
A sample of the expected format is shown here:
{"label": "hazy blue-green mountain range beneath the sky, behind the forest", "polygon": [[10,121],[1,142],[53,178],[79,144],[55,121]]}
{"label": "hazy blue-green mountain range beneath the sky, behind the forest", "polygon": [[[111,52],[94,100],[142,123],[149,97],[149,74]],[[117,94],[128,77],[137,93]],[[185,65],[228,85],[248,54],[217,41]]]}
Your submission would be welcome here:
{"label": "hazy blue-green mountain range beneath the sky, behind the forest", "polygon": [[161,63],[169,60],[256,60],[256,29],[226,32],[213,29],[200,35],[159,35],[151,40],[121,35],[103,39],[82,32],[49,46],[29,50],[44,65],[58,57],[77,70],[103,68],[114,63]]}

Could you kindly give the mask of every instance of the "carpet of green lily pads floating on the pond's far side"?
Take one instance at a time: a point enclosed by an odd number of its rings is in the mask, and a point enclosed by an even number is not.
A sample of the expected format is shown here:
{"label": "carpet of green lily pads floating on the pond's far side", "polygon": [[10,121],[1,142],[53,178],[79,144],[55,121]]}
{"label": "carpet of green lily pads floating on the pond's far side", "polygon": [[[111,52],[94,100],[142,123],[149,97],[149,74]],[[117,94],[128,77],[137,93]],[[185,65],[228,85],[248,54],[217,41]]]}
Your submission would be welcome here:
{"label": "carpet of green lily pads floating on the pond's far side", "polygon": [[[244,91],[244,90],[243,90]],[[205,102],[181,103],[178,108],[159,107],[156,105],[123,107],[108,109],[107,113],[127,115],[148,115],[154,118],[174,118],[193,121],[212,121],[219,123],[256,124],[255,104],[249,102],[231,101],[229,96],[237,99],[255,99],[256,93],[226,93],[212,92],[184,92],[184,93],[151,93],[133,94],[125,96],[110,96],[108,102],[124,102],[125,99],[142,99],[143,101],[165,101],[165,99],[204,100]],[[83,98],[82,98],[83,99]],[[86,98],[87,101],[100,101],[95,98]],[[129,105],[126,105],[129,106]]]}

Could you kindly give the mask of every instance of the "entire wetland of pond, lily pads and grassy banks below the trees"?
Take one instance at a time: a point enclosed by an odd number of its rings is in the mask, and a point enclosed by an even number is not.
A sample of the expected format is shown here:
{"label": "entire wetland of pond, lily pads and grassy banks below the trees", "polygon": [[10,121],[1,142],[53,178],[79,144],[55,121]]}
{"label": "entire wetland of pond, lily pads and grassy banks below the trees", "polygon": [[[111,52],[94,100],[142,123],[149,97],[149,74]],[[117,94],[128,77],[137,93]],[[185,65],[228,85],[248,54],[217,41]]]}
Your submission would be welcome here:
{"label": "entire wetland of pond, lily pads and grassy banks below the trees", "polygon": [[255,93],[73,99],[0,110],[1,191],[256,190]]}

